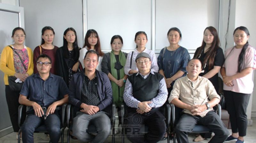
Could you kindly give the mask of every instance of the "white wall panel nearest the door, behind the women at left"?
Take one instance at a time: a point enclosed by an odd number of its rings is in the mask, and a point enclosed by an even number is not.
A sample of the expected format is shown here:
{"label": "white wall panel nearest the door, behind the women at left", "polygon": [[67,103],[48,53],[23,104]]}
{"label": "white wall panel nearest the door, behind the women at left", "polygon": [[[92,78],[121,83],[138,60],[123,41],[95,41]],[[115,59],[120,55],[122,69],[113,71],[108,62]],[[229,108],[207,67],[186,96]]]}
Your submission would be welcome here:
{"label": "white wall panel nearest the door, behind the women at left", "polygon": [[34,49],[41,44],[41,30],[51,26],[55,31],[53,44],[63,46],[63,33],[73,27],[78,46],[83,46],[82,0],[20,0],[25,12],[26,46]]}

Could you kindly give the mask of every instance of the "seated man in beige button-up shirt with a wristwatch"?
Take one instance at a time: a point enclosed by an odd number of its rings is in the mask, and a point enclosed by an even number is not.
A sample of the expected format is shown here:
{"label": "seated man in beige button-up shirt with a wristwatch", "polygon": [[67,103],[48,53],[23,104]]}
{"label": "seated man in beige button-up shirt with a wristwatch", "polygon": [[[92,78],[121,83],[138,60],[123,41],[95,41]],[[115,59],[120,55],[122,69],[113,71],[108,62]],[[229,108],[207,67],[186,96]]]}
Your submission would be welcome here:
{"label": "seated man in beige button-up shirt with a wristwatch", "polygon": [[204,125],[214,132],[209,143],[223,143],[229,135],[228,129],[212,109],[220,102],[220,96],[208,79],[198,76],[201,68],[198,59],[190,60],[186,67],[187,76],[174,83],[169,98],[170,103],[184,109],[175,127],[178,143],[188,143],[188,132],[192,132],[196,124]]}

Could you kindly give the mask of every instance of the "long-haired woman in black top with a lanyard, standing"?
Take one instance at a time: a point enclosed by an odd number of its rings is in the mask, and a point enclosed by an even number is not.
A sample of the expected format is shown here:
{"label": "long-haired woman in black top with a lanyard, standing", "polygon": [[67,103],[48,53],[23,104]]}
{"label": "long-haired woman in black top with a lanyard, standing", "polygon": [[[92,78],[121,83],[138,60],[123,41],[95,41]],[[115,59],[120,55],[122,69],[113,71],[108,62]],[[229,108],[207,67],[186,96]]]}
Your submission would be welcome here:
{"label": "long-haired woman in black top with a lanyard, standing", "polygon": [[[219,93],[218,73],[225,59],[220,48],[218,32],[214,27],[209,26],[204,29],[202,45],[196,49],[194,58],[198,58],[202,63],[202,72],[199,75],[208,78]],[[193,141],[198,142],[205,138],[211,138],[211,133],[202,133]]]}

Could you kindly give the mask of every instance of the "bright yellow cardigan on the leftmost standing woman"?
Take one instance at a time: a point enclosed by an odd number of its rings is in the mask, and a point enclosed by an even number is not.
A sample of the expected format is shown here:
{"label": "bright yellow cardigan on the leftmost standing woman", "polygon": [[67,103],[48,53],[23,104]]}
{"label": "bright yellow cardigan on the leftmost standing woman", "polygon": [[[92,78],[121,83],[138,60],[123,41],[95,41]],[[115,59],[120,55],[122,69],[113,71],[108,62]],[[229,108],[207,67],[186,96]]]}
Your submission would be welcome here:
{"label": "bright yellow cardigan on the leftmost standing woman", "polygon": [[[33,64],[33,53],[32,50],[27,47],[28,51],[28,75],[33,74],[34,64]],[[9,85],[8,83],[8,76],[14,76],[15,68],[13,62],[13,51],[9,46],[4,47],[1,53],[1,60],[0,60],[0,70],[4,72],[4,84]]]}

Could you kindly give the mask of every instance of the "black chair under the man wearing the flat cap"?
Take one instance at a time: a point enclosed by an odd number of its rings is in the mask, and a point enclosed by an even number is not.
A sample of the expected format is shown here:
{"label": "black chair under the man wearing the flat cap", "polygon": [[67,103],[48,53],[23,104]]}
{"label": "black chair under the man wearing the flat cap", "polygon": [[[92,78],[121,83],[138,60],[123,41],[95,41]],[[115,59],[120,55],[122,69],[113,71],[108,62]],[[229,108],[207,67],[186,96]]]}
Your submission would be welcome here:
{"label": "black chair under the man wearing the flat cap", "polygon": [[[126,106],[126,105],[125,105]],[[171,106],[170,104],[164,104],[164,116],[165,116],[165,124],[167,129],[167,143],[170,142],[169,132],[170,132],[170,121],[171,121]],[[124,143],[124,113],[125,113],[124,104],[121,105],[121,122],[122,122],[122,143]],[[148,133],[148,126],[142,126],[140,128],[141,134]]]}

